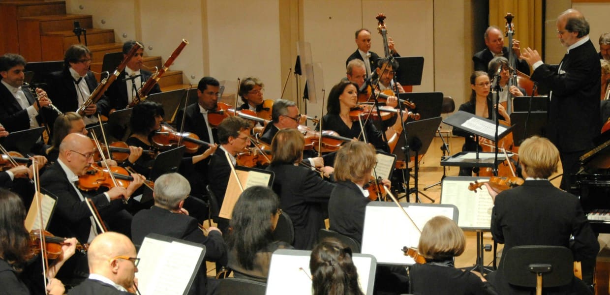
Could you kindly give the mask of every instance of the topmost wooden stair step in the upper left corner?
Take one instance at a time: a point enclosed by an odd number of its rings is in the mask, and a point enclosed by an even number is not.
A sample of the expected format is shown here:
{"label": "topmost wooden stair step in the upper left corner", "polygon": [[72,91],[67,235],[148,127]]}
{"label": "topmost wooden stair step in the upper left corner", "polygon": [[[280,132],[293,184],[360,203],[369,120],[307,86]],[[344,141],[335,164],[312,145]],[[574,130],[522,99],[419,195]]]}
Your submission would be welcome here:
{"label": "topmost wooden stair step in the upper left corner", "polygon": [[20,52],[19,18],[65,13],[66,2],[63,0],[0,1],[0,52]]}

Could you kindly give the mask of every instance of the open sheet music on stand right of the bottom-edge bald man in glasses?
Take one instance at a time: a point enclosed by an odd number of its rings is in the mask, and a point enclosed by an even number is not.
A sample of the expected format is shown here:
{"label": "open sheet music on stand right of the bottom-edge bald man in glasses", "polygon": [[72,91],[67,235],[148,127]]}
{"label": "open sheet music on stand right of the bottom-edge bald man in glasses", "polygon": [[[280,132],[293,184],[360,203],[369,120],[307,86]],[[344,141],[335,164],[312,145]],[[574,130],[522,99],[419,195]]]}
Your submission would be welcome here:
{"label": "open sheet music on stand right of the bottom-edge bald man in glasses", "polygon": [[145,238],[138,257],[136,277],[142,294],[183,294],[203,247]]}

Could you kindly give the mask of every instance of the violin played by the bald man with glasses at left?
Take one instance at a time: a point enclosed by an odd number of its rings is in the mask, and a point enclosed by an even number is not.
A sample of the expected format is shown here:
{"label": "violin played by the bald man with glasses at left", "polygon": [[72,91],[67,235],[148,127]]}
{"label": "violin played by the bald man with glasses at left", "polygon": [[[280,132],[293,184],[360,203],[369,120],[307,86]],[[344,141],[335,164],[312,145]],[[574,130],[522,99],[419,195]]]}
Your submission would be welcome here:
{"label": "violin played by the bald man with glasses at left", "polygon": [[[110,166],[112,176],[117,180],[117,185],[123,188],[129,187],[134,177],[129,175],[129,172],[121,166]],[[144,180],[144,183],[151,188],[154,188],[154,182]],[[84,175],[78,177],[78,187],[83,191],[98,190],[100,187],[113,188],[115,184],[110,177],[110,172],[106,168],[101,168],[96,165],[91,165],[90,169]]]}

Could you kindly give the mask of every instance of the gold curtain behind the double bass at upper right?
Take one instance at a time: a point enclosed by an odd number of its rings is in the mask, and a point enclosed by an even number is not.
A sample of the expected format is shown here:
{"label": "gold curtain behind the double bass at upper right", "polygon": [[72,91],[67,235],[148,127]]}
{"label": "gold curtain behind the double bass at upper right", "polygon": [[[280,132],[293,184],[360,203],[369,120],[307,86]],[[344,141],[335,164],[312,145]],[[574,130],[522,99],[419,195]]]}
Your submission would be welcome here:
{"label": "gold curtain behind the double bass at upper right", "polygon": [[[514,38],[519,40],[521,48],[542,51],[542,0],[489,0],[489,25],[500,29],[506,27],[504,16],[512,13],[515,28]],[[504,39],[504,46],[510,46]]]}

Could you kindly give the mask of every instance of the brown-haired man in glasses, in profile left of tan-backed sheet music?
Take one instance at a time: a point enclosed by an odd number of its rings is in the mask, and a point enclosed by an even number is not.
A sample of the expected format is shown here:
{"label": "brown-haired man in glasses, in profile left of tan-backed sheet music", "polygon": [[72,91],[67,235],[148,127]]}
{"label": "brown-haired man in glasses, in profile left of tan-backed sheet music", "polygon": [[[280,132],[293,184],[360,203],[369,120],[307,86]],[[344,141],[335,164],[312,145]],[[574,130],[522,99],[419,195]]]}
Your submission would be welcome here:
{"label": "brown-haired man in glasses, in profile left of tan-backed sheet music", "polygon": [[[218,200],[218,207],[222,208],[224,193],[229,183],[231,166],[225,154],[229,155],[231,164],[235,166],[235,155],[243,151],[250,144],[251,124],[248,120],[238,116],[229,116],[218,125],[218,142],[220,146],[213,153],[208,165],[207,177],[209,187]],[[218,218],[218,228],[221,232],[229,231],[229,221]]]}

